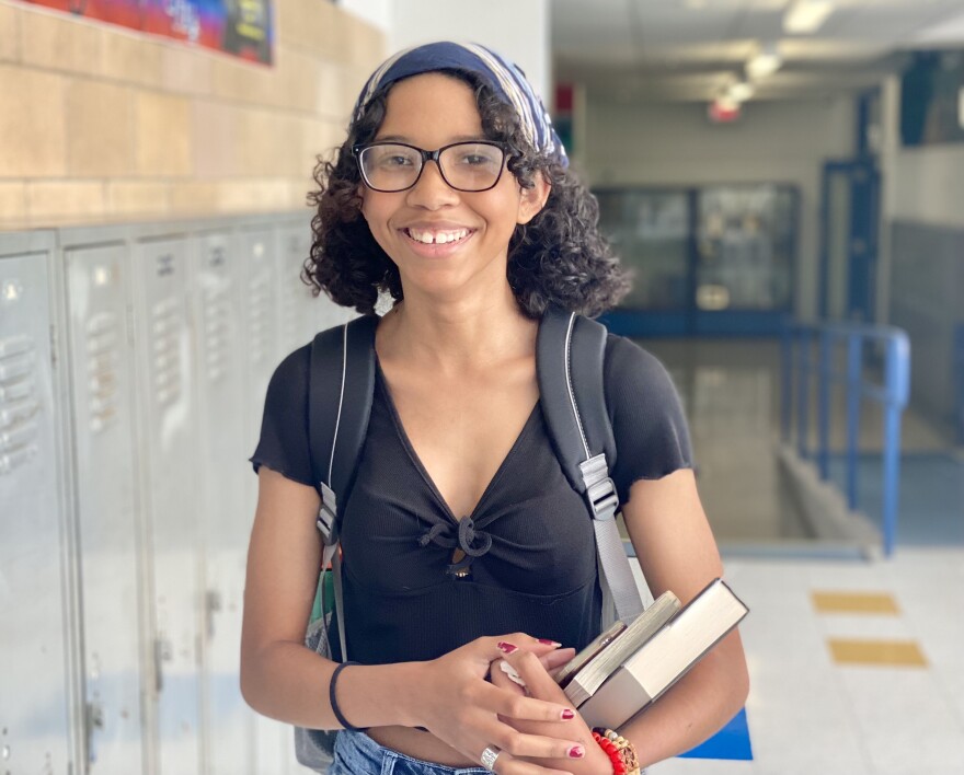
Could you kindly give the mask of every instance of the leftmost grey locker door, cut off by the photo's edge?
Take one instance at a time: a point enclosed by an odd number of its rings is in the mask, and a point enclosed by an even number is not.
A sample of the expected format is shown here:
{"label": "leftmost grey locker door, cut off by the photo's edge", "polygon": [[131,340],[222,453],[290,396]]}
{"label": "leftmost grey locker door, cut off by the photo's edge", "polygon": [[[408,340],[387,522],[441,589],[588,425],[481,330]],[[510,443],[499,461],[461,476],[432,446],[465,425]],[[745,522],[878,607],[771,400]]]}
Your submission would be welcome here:
{"label": "leftmost grey locker door, cut off by the photo's edge", "polygon": [[67,772],[49,251],[10,255],[8,247],[27,245],[5,242],[0,238],[0,772]]}

